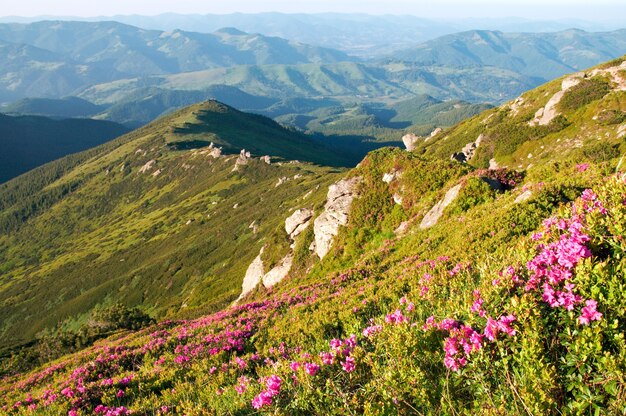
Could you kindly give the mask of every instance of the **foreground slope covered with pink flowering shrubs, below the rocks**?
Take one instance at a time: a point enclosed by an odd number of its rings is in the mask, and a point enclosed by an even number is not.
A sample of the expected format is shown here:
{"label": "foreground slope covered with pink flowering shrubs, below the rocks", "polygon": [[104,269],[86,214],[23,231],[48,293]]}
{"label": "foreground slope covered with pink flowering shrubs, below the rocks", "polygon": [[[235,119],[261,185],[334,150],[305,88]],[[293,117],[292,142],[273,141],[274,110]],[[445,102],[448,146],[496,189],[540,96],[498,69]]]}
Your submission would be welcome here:
{"label": "foreground slope covered with pink flowering shrubs, below the rocks", "polygon": [[[372,157],[380,169],[411,162]],[[428,232],[364,239],[353,224],[338,239],[343,257],[247,303],[6,377],[0,411],[622,413],[626,176],[574,163],[554,171],[529,170],[512,190],[450,207]],[[406,189],[420,183],[405,177]],[[513,203],[524,189],[535,199]],[[375,223],[403,219],[381,212]]]}

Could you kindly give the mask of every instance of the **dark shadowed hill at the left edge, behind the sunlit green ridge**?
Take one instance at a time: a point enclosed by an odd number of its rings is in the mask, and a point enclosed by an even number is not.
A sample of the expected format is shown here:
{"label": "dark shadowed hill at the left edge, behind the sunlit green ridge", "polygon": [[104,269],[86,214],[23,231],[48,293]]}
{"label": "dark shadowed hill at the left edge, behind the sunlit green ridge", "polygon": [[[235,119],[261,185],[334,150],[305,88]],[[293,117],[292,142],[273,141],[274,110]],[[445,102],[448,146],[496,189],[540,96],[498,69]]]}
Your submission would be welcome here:
{"label": "dark shadowed hill at the left edge, behind the sunlit green ridge", "polygon": [[0,183],[128,132],[110,121],[0,114]]}

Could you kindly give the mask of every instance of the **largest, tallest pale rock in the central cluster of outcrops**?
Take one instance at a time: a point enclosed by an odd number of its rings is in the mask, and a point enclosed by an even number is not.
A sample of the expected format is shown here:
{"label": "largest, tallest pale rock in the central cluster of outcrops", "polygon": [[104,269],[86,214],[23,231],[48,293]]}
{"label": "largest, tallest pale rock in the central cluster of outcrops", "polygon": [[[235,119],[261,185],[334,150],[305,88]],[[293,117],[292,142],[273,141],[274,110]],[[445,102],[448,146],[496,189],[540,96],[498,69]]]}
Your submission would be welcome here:
{"label": "largest, tallest pale rock in the central cluster of outcrops", "polygon": [[328,254],[333,239],[339,233],[339,227],[348,224],[350,206],[356,197],[356,187],[360,181],[360,177],[343,179],[328,188],[324,212],[313,222],[314,249],[320,259]]}

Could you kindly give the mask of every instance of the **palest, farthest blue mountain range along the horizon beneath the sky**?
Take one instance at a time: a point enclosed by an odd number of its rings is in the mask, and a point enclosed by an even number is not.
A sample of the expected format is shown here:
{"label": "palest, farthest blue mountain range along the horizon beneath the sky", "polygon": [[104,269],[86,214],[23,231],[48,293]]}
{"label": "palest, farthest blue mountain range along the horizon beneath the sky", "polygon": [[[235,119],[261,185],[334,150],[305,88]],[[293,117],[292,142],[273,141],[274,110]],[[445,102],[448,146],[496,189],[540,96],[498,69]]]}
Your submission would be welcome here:
{"label": "palest, farthest blue mountain range along the horizon beneath the sky", "polygon": [[[58,20],[57,16],[4,17],[0,22],[33,23]],[[504,32],[557,32],[579,28],[592,32],[622,28],[622,22],[598,23],[576,19],[531,20],[523,18],[427,19],[410,15],[348,13],[286,14],[176,14],[157,16],[64,17],[74,21],[117,21],[145,29],[210,33],[224,27],[263,33],[299,42],[339,49],[350,55],[375,58],[440,36],[473,29]]]}

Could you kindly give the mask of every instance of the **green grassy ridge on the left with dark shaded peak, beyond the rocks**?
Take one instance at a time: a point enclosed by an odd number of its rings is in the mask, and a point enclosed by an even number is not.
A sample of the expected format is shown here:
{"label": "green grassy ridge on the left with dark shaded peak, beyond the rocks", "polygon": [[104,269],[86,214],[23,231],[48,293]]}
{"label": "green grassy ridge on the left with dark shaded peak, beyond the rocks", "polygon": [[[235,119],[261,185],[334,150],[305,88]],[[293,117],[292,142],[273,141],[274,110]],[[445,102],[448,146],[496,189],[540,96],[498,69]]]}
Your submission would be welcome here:
{"label": "green grassy ridge on the left with dark shaded peak, beyond the rocks", "polygon": [[[256,255],[250,248],[260,248],[299,197],[318,186],[323,194],[333,178],[330,168],[258,159],[232,172],[235,156],[214,160],[167,145],[201,139],[225,153],[245,146],[259,156],[280,147],[285,157],[289,150],[293,159],[331,161],[269,119],[210,102],[95,149],[69,169],[56,162],[62,174],[42,169],[9,182],[0,219],[3,342],[28,340],[117,300],[162,316],[223,307]],[[150,160],[154,167],[139,173]],[[302,177],[275,188],[295,175]],[[257,235],[248,228],[253,221]]]}

